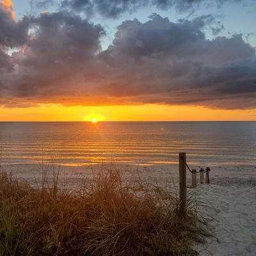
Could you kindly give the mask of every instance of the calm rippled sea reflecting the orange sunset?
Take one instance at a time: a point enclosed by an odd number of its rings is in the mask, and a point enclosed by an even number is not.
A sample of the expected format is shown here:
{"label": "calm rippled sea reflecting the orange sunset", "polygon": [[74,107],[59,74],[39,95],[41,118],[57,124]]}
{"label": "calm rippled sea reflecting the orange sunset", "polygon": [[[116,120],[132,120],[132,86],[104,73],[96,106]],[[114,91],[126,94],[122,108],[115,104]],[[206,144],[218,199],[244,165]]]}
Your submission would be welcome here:
{"label": "calm rippled sea reflecting the orange sunset", "polygon": [[256,122],[0,122],[2,163],[256,164]]}

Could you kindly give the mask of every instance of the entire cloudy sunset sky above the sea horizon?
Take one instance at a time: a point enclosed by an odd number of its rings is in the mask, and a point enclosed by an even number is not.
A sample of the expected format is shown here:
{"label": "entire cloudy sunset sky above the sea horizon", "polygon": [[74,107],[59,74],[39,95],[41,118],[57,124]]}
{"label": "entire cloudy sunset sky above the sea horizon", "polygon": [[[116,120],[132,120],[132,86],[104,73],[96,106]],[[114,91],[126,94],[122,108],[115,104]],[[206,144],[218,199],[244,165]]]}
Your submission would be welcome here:
{"label": "entire cloudy sunset sky above the sea horizon", "polygon": [[254,0],[0,0],[0,121],[256,120]]}

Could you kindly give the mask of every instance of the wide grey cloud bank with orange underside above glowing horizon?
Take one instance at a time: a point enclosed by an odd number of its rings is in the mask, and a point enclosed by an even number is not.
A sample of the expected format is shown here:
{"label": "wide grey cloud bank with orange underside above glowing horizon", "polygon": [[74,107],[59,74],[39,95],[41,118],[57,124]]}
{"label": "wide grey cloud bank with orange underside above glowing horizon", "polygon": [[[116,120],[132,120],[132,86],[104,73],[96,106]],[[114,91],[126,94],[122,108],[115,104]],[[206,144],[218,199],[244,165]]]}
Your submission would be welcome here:
{"label": "wide grey cloud bank with orange underside above glowing horizon", "polygon": [[0,104],[256,108],[255,49],[242,35],[207,39],[212,20],[125,20],[102,51],[104,28],[74,12],[15,20],[0,4]]}

